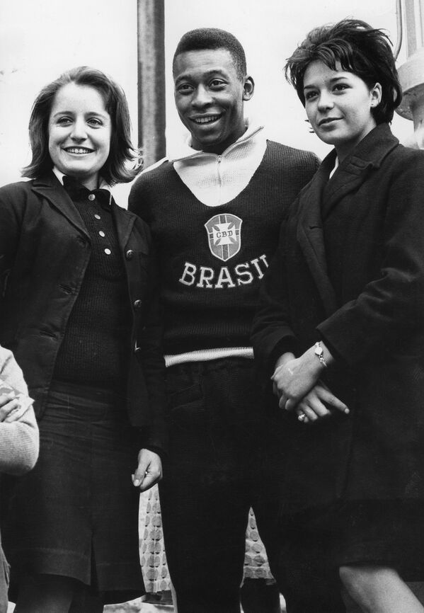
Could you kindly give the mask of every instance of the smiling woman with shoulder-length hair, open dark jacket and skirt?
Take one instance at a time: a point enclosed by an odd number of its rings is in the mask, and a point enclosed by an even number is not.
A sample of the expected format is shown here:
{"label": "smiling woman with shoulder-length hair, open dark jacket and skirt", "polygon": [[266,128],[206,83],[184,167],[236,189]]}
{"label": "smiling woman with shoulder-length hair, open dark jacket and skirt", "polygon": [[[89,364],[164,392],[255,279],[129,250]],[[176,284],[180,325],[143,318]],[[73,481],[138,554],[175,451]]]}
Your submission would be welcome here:
{"label": "smiling woman with shoulder-length hair, open dark jacket and skirt", "polygon": [[8,509],[11,599],[16,613],[93,613],[144,593],[139,490],[164,449],[157,273],[147,225],[110,193],[137,174],[121,88],[71,69],[29,128],[31,181],[0,189],[0,340],[40,425]]}

